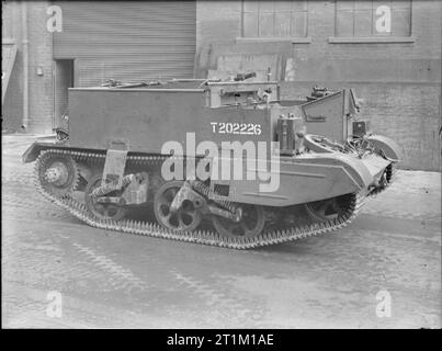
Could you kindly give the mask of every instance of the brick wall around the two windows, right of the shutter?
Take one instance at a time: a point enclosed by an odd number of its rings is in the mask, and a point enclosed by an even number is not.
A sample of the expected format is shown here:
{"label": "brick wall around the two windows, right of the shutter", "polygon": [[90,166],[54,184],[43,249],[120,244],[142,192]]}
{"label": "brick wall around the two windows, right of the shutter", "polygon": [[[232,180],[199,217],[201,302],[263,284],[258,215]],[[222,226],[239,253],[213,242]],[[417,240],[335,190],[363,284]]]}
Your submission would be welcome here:
{"label": "brick wall around the two windows, right of the shutter", "polygon": [[284,97],[314,84],[354,88],[362,117],[403,149],[401,167],[440,170],[441,2],[412,1],[411,43],[330,43],[335,1],[308,2],[307,43],[243,41],[241,1],[197,2],[195,75],[206,77],[229,55],[277,55]]}

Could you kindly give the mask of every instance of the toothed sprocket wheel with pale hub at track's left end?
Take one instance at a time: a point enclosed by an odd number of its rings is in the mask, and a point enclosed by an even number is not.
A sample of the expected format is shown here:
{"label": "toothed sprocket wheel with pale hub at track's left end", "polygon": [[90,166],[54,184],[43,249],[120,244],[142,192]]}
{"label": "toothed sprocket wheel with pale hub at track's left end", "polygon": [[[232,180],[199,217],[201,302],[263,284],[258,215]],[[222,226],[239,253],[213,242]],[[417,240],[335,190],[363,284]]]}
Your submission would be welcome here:
{"label": "toothed sprocket wheel with pale hub at track's left end", "polygon": [[72,193],[79,180],[77,163],[69,155],[43,155],[37,172],[42,188],[56,196]]}

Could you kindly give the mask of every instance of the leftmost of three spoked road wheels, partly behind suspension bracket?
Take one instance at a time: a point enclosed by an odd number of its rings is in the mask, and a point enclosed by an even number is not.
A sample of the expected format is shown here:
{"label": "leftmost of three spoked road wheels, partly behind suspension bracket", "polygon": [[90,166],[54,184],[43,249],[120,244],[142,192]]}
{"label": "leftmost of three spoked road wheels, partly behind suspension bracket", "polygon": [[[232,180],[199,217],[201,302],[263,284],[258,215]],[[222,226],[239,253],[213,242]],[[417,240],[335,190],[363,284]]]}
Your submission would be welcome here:
{"label": "leftmost of three spoked road wheels, partly behind suspension bracket", "polygon": [[[109,182],[113,181],[113,178],[107,178]],[[84,202],[88,211],[92,213],[99,219],[112,219],[120,220],[126,214],[126,208],[123,205],[114,203],[100,203],[98,197],[91,196],[91,193],[101,186],[102,174],[93,176],[86,186]],[[121,196],[122,190],[115,190],[106,194],[106,196]]]}

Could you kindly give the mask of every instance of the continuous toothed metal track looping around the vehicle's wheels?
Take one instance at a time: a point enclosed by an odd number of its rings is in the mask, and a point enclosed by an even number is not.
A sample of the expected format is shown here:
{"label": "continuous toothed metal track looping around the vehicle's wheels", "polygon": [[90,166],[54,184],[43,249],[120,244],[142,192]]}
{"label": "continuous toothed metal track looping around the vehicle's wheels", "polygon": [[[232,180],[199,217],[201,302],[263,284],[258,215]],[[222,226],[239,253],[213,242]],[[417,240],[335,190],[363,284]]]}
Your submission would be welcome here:
{"label": "continuous toothed metal track looping around the vehicle's wheels", "polygon": [[[361,211],[362,206],[365,204],[365,201],[367,199],[366,195],[354,194],[352,196],[351,203],[349,204],[348,211],[338,218],[328,222],[311,223],[309,225],[298,227],[273,229],[262,233],[256,237],[224,237],[213,230],[194,230],[194,231],[177,233],[167,229],[162,226],[159,226],[156,223],[131,220],[131,219],[121,219],[121,220],[100,219],[95,217],[93,214],[89,213],[87,211],[86,205],[75,200],[71,196],[71,194],[56,196],[54,194],[48,193],[42,186],[41,179],[38,176],[39,169],[44,167],[44,161],[46,158],[45,155],[47,154],[71,156],[76,161],[86,161],[86,160],[104,161],[105,154],[71,151],[64,149],[48,149],[41,152],[35,163],[34,181],[37,191],[49,202],[63,207],[71,215],[76,216],[86,224],[101,229],[117,230],[134,235],[143,235],[155,238],[195,242],[230,249],[252,249],[262,246],[293,241],[296,239],[341,229],[353,220],[353,218],[359,214],[359,212]],[[127,162],[137,166],[141,163],[162,162],[167,158],[168,158],[167,156],[128,156]]]}

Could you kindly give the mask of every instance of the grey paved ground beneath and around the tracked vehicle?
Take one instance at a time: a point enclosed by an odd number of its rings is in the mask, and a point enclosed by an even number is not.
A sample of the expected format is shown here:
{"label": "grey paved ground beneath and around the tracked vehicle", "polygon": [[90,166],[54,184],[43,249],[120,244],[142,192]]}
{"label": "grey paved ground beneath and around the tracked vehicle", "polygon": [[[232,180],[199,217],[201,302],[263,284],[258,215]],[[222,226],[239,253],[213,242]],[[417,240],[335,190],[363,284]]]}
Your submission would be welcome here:
{"label": "grey paved ground beneath and around the tracked vehicle", "polygon": [[441,327],[440,173],[399,171],[340,231],[233,251],[83,225],[34,191],[30,143],[2,141],[3,327]]}

